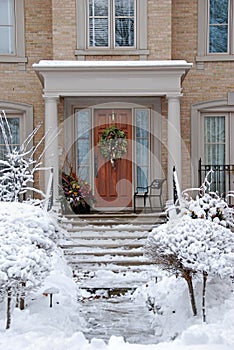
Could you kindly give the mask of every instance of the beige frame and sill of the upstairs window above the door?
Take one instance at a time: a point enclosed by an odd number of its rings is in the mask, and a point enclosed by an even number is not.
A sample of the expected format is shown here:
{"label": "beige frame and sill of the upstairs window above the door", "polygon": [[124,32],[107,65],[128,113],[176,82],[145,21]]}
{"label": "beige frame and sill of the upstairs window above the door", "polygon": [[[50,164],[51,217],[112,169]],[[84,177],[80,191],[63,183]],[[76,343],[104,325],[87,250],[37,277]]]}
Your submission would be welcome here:
{"label": "beige frame and sill of the upstairs window above the door", "polygon": [[[78,60],[85,56],[129,56],[140,55],[147,59],[149,55],[147,43],[147,0],[136,0],[135,5],[135,47],[89,47],[88,37],[88,8],[87,0],[76,0],[77,19],[77,49],[75,55]],[[114,33],[113,33],[114,35]]]}

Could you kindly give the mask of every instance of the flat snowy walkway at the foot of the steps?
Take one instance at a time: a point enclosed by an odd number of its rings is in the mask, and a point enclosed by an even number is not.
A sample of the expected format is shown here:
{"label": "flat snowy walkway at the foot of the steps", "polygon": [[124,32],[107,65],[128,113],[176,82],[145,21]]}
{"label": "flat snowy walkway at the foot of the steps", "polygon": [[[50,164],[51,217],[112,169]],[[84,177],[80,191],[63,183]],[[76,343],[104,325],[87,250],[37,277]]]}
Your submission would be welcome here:
{"label": "flat snowy walkway at the foot of the steps", "polygon": [[132,298],[131,293],[110,298],[84,298],[80,315],[86,321],[82,331],[89,340],[121,336],[130,343],[153,344],[157,338],[152,326],[153,312],[144,301]]}

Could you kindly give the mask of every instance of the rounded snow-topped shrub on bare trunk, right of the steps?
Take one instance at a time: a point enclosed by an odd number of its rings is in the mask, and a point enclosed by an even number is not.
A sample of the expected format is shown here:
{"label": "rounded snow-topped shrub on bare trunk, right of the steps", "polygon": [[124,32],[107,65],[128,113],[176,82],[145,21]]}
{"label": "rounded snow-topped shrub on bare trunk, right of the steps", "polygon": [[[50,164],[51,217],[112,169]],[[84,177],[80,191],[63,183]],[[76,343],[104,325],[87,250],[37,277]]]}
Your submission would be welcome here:
{"label": "rounded snow-topped shrub on bare trunk, right of the steps", "polygon": [[221,278],[234,273],[233,233],[210,220],[184,216],[149,234],[145,254],[162,269],[185,278],[194,315],[197,314],[192,277],[201,273]]}

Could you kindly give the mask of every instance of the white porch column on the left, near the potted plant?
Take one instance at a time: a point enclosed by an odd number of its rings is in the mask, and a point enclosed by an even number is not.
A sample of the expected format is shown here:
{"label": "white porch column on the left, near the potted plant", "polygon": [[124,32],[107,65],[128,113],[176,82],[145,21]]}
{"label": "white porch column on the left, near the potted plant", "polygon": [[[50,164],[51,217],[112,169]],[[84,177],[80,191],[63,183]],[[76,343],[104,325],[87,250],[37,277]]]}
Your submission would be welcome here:
{"label": "white porch column on the left, near the potted plant", "polygon": [[[53,168],[53,198],[58,199],[59,151],[58,151],[58,100],[56,96],[43,96],[45,101],[45,167]],[[50,172],[45,171],[45,191]]]}

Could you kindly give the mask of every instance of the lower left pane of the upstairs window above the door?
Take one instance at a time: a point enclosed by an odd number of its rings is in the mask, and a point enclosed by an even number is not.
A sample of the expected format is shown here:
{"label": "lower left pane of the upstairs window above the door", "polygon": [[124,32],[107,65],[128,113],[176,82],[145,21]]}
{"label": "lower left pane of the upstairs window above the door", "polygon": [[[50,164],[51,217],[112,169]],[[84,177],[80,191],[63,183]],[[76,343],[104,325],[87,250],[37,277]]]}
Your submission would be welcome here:
{"label": "lower left pane of the upstairs window above the door", "polygon": [[89,46],[108,46],[108,18],[89,19]]}

